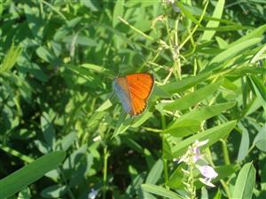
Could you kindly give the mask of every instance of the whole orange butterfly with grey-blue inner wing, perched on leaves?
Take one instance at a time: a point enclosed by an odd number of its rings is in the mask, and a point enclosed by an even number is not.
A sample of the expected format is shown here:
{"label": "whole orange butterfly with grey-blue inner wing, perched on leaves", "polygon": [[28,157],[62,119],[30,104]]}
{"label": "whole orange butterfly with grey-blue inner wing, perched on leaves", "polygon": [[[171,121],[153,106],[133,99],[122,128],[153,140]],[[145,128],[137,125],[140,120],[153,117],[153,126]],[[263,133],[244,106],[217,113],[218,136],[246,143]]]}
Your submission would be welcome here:
{"label": "whole orange butterfly with grey-blue inner wing, perched on leaves", "polygon": [[114,78],[113,90],[121,101],[123,109],[131,116],[145,111],[147,99],[152,93],[154,84],[150,73],[134,73]]}

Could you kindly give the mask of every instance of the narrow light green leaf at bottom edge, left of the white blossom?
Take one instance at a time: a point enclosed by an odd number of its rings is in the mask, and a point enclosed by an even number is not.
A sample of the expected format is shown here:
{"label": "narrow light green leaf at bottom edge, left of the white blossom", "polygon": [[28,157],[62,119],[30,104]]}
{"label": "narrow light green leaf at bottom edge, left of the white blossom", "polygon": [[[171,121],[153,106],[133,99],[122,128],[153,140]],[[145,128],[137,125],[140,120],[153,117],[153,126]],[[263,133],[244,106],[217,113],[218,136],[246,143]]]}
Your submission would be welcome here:
{"label": "narrow light green leaf at bottom edge, left of the white blossom", "polygon": [[160,196],[167,197],[170,199],[184,199],[184,197],[182,197],[181,195],[177,195],[173,191],[170,191],[166,188],[161,188],[161,187],[156,186],[156,185],[142,184],[141,188],[145,192],[152,193],[153,195],[160,195]]}

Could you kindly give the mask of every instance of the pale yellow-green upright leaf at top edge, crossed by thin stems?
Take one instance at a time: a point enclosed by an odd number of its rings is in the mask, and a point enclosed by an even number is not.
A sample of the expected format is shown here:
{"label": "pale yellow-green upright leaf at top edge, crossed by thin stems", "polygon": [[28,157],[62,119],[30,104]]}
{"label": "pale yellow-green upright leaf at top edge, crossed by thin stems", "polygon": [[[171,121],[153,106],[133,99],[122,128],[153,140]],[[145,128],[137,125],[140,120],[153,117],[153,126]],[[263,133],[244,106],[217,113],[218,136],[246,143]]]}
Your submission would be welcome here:
{"label": "pale yellow-green upright leaf at top edge, crossed by thin stems", "polygon": [[[215,6],[215,11],[212,15],[213,18],[221,19],[223,14],[223,7],[224,7],[224,0],[219,0]],[[219,21],[208,21],[206,27],[219,27]],[[204,40],[211,40],[212,37],[215,35],[215,31],[204,31],[202,37],[200,38],[202,41]]]}

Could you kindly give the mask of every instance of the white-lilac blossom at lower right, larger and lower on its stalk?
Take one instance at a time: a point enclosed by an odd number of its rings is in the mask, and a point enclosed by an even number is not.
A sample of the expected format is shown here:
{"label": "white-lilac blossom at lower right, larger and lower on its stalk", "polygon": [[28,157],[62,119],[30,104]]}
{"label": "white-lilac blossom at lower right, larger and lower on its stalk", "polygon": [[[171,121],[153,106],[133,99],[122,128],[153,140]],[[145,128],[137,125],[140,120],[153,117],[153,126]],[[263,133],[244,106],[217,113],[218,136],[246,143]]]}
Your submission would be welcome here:
{"label": "white-lilac blossom at lower right, larger and lower on its stalk", "polygon": [[209,165],[196,165],[196,167],[199,169],[201,175],[205,177],[205,179],[200,178],[200,181],[207,186],[214,188],[215,185],[210,182],[218,176],[218,173],[215,172],[214,168]]}

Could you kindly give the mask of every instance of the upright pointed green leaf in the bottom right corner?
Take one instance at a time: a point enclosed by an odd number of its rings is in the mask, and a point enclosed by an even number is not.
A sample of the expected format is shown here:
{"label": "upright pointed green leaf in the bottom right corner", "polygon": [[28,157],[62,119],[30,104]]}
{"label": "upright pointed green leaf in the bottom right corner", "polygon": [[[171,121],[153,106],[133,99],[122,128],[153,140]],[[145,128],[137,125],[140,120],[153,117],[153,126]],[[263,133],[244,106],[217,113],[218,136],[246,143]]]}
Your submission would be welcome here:
{"label": "upright pointed green leaf in the bottom right corner", "polygon": [[236,185],[233,188],[232,198],[252,198],[255,184],[255,174],[256,171],[252,163],[247,163],[243,166],[239,172]]}

